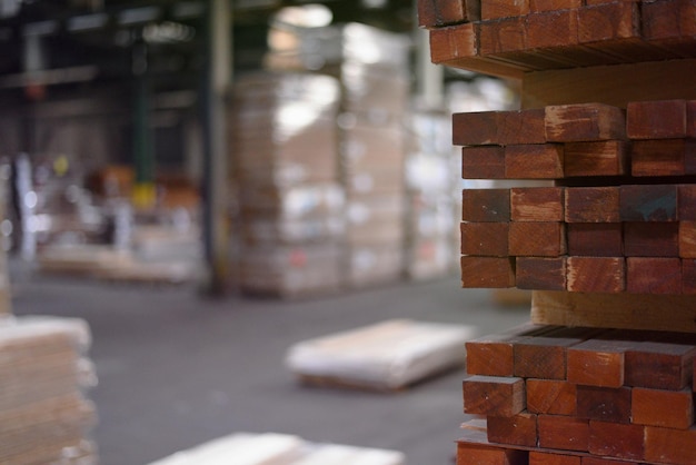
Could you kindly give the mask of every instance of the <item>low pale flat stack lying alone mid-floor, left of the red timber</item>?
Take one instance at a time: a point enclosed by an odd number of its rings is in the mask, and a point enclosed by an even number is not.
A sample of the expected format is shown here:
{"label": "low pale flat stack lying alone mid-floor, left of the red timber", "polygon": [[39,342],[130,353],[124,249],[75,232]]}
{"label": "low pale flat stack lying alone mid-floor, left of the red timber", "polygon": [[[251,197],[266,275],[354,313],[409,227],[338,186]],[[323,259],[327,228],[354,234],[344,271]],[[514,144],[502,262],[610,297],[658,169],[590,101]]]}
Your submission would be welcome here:
{"label": "low pale flat stack lying alone mid-floor, left of the red timber", "polygon": [[298,343],[286,365],[295,374],[395,389],[464,365],[471,326],[392,319]]}

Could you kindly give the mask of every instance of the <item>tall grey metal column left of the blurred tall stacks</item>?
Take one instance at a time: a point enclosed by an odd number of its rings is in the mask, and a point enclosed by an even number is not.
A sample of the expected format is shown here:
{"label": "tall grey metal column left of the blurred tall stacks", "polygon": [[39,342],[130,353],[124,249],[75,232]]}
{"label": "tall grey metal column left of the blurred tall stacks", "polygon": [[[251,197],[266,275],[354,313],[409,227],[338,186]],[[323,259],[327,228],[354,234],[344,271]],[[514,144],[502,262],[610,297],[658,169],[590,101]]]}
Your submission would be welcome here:
{"label": "tall grey metal column left of the blurred tall stacks", "polygon": [[207,276],[205,291],[225,294],[229,227],[227,214],[226,96],[231,83],[230,0],[209,0],[206,12],[203,107],[203,240]]}

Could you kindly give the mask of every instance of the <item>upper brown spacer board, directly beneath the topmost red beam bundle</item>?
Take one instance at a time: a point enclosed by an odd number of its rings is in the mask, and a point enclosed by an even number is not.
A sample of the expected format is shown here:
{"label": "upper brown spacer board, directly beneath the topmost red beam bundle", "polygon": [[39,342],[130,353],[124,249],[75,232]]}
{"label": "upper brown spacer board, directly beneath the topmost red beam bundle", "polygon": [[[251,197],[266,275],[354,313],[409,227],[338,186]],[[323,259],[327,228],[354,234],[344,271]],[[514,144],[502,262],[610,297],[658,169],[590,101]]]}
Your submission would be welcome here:
{"label": "upper brown spacer board, directly beneath the topmost red beam bundle", "polygon": [[521,108],[588,101],[625,108],[639,100],[693,100],[695,68],[696,59],[685,59],[529,71],[523,77]]}

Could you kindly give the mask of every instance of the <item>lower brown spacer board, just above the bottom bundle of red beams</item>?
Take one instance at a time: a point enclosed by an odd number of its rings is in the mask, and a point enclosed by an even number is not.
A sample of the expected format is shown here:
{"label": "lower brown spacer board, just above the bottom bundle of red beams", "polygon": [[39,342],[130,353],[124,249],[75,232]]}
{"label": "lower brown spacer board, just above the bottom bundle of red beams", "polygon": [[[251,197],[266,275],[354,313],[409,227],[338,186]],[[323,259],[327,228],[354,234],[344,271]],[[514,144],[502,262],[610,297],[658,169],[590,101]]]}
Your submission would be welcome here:
{"label": "lower brown spacer board, just above the bottom bundle of red beams", "polygon": [[[696,333],[694,296],[531,293],[531,323]],[[662,309],[669,308],[669,318]]]}

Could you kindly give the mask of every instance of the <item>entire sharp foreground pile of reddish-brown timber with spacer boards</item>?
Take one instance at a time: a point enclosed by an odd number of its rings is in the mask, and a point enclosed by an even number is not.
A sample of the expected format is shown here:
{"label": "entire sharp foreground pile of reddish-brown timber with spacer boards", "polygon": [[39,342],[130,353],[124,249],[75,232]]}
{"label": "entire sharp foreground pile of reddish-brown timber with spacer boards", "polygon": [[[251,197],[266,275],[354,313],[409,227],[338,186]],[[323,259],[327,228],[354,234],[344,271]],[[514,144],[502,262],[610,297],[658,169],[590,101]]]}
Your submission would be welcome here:
{"label": "entire sharp foreground pile of reddish-brown timber with spacer boards", "polygon": [[419,13],[435,62],[521,80],[454,116],[463,176],[546,182],[463,195],[463,286],[533,289],[536,326],[467,344],[457,463],[696,463],[696,2]]}

